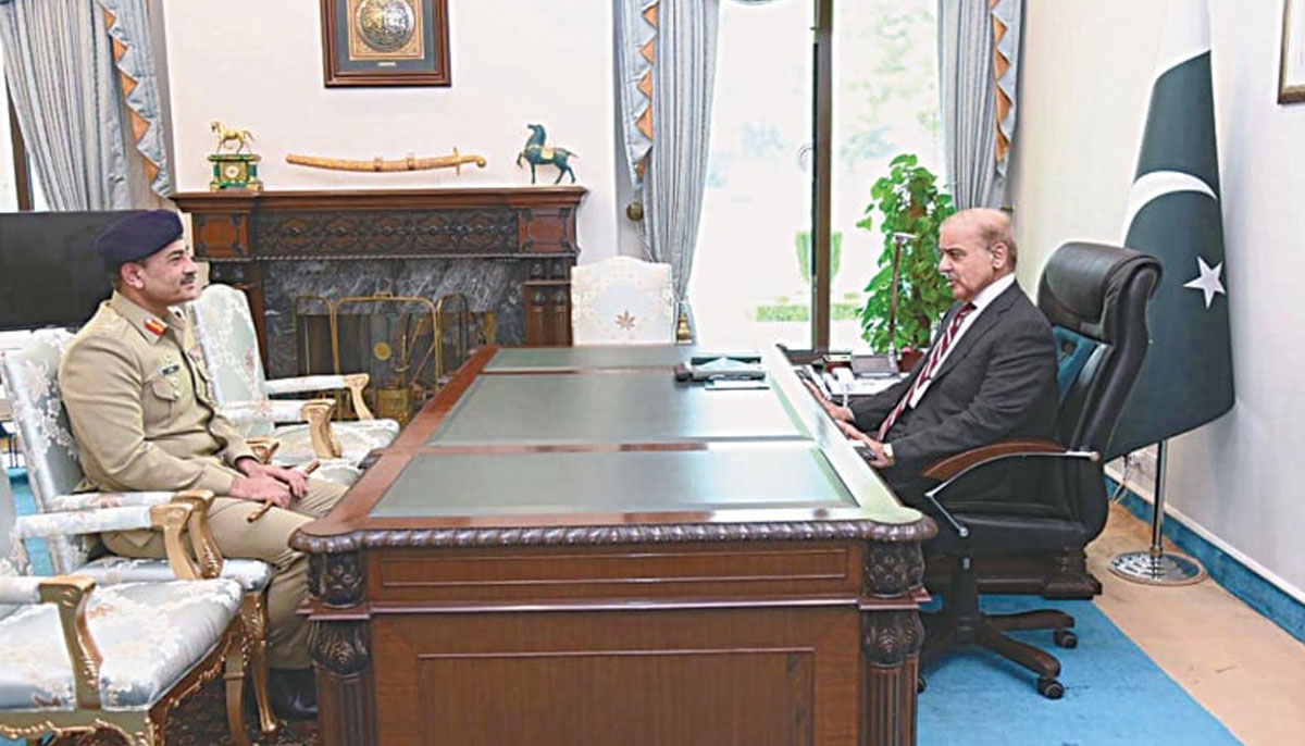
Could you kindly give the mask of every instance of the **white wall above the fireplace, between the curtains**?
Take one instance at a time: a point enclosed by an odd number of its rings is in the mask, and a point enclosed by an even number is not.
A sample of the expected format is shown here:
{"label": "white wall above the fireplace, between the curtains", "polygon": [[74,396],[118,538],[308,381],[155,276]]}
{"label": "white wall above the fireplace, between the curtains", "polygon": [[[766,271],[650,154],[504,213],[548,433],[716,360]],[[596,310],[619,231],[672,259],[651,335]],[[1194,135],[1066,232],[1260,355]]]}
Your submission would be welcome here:
{"label": "white wall above the fireplace, between the curtains", "polygon": [[[249,129],[265,189],[455,188],[530,184],[515,166],[527,123],[589,188],[582,262],[617,253],[612,4],[598,0],[449,3],[452,87],[326,89],[318,0],[168,3],[164,10],[177,188],[206,190],[209,123]],[[371,160],[444,155],[457,146],[483,170],[399,173],[322,171],[288,153]],[[539,183],[556,171],[542,167]]]}

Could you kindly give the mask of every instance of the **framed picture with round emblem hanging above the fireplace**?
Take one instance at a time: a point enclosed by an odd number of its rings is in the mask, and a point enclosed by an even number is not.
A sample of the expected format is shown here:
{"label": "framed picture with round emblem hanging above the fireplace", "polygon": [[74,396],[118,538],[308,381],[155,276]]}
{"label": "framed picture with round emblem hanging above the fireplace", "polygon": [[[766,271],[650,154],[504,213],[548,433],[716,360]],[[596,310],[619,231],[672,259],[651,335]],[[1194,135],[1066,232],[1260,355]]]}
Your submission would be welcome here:
{"label": "framed picture with round emblem hanging above the fireplace", "polygon": [[448,0],[321,0],[322,77],[337,86],[446,86]]}

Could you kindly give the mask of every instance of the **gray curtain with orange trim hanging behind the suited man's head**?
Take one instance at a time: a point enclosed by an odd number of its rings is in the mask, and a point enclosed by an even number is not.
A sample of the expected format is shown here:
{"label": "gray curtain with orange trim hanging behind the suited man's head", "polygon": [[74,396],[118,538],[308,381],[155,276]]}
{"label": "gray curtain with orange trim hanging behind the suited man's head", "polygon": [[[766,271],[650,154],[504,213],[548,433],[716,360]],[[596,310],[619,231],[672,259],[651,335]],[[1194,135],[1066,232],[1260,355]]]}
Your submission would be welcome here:
{"label": "gray curtain with orange trim hanging behind the suited man's head", "polygon": [[[938,0],[938,89],[957,207],[1000,207],[1015,145],[1023,0]],[[1002,30],[994,39],[994,30]],[[998,76],[996,59],[1001,60]]]}

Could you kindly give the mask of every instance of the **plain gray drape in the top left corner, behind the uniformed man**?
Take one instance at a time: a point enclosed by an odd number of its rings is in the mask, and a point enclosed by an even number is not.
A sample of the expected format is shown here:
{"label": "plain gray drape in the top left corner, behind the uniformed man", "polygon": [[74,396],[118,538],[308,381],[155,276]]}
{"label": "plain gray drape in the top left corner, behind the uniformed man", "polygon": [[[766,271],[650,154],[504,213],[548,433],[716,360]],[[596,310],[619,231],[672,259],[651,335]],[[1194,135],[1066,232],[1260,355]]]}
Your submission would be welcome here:
{"label": "plain gray drape in the top left corner, behind the uniformed man", "polygon": [[100,8],[94,0],[0,3],[0,46],[18,125],[51,209],[130,207]]}

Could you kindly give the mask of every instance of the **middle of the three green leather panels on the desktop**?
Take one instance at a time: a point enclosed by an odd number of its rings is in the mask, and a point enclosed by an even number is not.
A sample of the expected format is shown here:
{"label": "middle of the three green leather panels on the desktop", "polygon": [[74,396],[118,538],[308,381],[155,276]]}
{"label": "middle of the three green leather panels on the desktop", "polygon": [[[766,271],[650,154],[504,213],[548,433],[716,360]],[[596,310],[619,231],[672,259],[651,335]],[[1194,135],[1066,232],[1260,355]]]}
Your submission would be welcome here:
{"label": "middle of the three green leather panels on the desktop", "polygon": [[428,445],[806,438],[769,389],[680,386],[669,370],[480,376]]}

